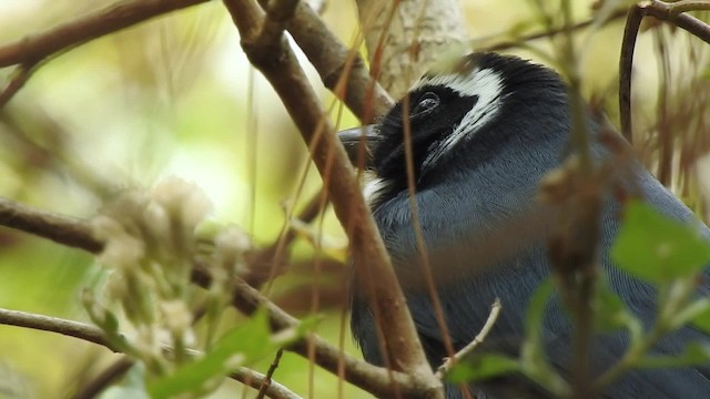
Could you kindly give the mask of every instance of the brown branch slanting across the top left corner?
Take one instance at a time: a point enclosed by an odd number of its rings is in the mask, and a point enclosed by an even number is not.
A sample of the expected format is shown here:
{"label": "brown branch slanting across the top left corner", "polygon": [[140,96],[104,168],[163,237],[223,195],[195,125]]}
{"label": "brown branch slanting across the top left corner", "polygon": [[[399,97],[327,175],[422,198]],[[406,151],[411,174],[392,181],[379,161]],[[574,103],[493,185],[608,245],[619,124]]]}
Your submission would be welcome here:
{"label": "brown branch slanting across the top left corner", "polygon": [[0,68],[34,65],[102,35],[134,25],[171,11],[209,0],[124,0],[59,27],[0,47]]}

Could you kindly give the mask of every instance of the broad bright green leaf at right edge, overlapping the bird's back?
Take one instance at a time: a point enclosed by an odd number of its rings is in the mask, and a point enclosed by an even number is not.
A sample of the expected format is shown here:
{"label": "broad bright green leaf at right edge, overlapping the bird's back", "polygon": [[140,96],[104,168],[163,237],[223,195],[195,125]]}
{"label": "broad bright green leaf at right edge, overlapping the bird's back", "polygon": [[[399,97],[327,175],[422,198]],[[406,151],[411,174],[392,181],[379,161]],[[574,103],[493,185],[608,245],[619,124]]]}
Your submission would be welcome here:
{"label": "broad bright green leaf at right edge, overlapping the bird's back", "polygon": [[626,206],[611,258],[626,272],[660,284],[706,267],[710,263],[710,243],[692,225],[633,201]]}

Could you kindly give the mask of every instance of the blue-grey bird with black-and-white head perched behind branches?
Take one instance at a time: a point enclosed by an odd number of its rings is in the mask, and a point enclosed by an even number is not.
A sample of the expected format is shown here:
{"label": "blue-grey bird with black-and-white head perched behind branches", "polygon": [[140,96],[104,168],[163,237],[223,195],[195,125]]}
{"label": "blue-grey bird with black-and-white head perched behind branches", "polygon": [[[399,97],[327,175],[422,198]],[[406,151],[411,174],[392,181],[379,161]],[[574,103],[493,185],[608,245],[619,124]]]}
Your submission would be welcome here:
{"label": "blue-grey bird with black-and-white head perched behind branches", "polygon": [[[609,127],[588,109],[585,105],[582,117],[589,156],[599,165],[612,156],[601,140]],[[575,153],[571,113],[568,84],[551,68],[516,55],[474,52],[425,73],[406,99],[374,125],[338,133],[351,160],[367,176],[366,201],[434,369],[450,354],[436,318],[437,305],[426,288],[422,272],[426,264],[454,350],[474,340],[490,304],[499,298],[503,310],[480,350],[520,355],[530,298],[554,273],[548,239],[556,213],[539,200],[539,187]],[[619,177],[623,178],[632,181],[636,194],[661,214],[697,225],[710,238],[708,227],[640,161],[630,164],[627,176]],[[650,328],[657,314],[657,288],[620,269],[610,255],[621,226],[623,198],[610,188],[600,195],[600,279]],[[417,234],[425,253],[417,246]],[[707,270],[702,277],[698,295],[708,295]],[[366,284],[352,275],[351,329],[365,360],[384,366]],[[569,378],[574,325],[559,293],[545,308],[540,328],[548,361]],[[683,326],[659,340],[651,352],[680,354],[693,341],[707,345],[710,338],[692,325]],[[628,344],[623,330],[595,334],[591,377],[618,361]],[[520,374],[466,387],[445,383],[449,399],[464,398],[464,389],[476,398],[552,397]],[[709,398],[710,366],[635,369],[598,397]]]}

